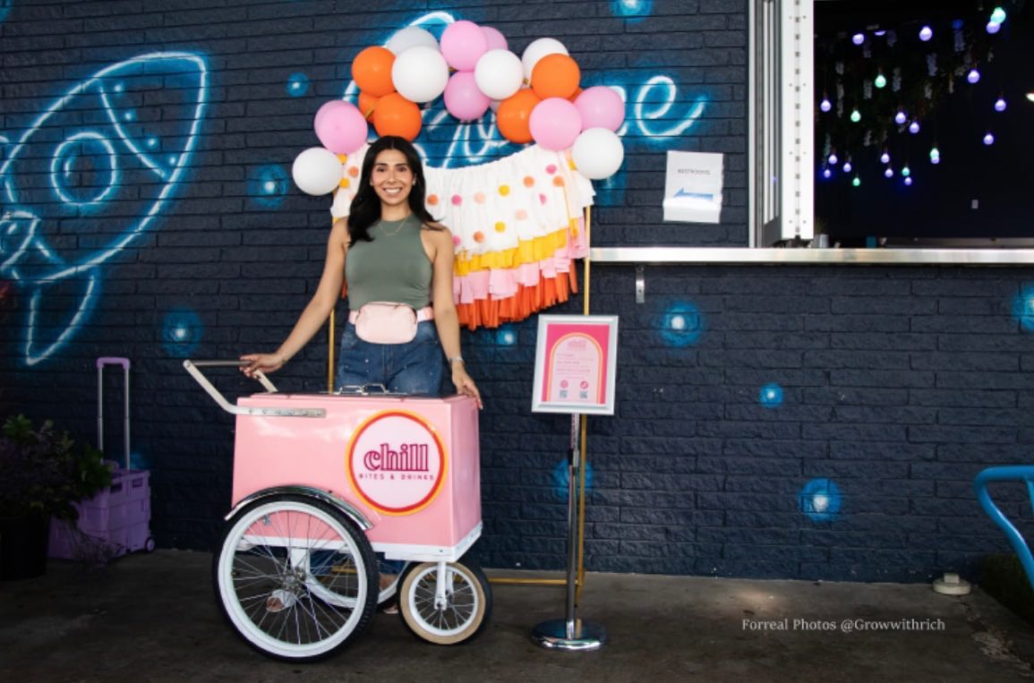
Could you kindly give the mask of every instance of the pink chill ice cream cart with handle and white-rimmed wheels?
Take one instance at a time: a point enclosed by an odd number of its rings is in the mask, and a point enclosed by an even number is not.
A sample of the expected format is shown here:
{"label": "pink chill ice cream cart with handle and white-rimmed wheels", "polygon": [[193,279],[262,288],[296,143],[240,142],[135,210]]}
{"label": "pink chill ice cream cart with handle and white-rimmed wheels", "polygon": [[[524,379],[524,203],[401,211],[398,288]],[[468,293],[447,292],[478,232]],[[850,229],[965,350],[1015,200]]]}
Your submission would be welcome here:
{"label": "pink chill ice cream cart with handle and white-rimmed wheels", "polygon": [[[476,635],[491,589],[464,557],[481,535],[474,399],[279,394],[257,373],[267,391],[235,405],[202,368],[240,365],[183,364],[236,415],[233,509],[213,567],[234,628],[272,657],[317,659],[397,596],[418,637]],[[383,571],[376,554],[404,568]]]}

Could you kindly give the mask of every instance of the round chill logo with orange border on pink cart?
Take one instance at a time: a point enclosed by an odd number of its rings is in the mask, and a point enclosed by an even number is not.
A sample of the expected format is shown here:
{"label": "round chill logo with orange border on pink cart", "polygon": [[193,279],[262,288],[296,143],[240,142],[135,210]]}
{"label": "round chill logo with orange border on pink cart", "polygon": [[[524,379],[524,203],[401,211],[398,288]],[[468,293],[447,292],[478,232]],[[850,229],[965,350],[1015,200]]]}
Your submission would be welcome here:
{"label": "round chill logo with orange border on pink cart", "polygon": [[345,467],[353,489],[368,505],[387,515],[412,515],[438,495],[446,449],[420,415],[385,410],[356,429]]}

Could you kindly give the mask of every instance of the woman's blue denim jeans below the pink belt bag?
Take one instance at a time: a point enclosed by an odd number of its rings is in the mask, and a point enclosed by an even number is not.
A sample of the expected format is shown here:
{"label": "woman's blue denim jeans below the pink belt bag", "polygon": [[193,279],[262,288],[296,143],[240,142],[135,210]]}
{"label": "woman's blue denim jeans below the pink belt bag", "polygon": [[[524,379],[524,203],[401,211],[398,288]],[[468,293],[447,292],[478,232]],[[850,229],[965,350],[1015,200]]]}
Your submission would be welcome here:
{"label": "woman's blue denim jeans below the pink belt bag", "polygon": [[404,344],[371,344],[348,322],[341,335],[337,389],[347,384],[384,384],[389,392],[442,396],[445,360],[433,320],[417,323],[417,336]]}

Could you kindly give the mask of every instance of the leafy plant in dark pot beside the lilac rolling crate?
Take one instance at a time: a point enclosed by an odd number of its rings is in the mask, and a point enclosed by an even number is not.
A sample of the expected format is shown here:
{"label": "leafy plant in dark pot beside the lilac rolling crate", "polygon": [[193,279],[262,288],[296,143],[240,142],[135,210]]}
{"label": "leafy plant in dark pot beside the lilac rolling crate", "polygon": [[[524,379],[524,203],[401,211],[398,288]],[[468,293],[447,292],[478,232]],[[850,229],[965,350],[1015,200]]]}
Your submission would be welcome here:
{"label": "leafy plant in dark pot beside the lilac rolling crate", "polygon": [[99,451],[25,415],[0,430],[0,580],[41,575],[51,518],[73,522],[74,503],[112,483]]}

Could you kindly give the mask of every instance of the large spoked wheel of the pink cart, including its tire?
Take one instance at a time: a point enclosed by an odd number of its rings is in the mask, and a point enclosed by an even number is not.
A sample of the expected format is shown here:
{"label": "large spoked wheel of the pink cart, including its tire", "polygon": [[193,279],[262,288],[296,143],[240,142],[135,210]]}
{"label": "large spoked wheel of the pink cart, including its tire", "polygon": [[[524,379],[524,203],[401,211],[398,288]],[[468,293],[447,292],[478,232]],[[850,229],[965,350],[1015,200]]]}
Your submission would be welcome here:
{"label": "large spoked wheel of the pink cart, including its tire", "polygon": [[375,566],[369,540],[339,510],[284,495],[230,521],[213,570],[219,606],[248,645],[305,661],[330,655],[369,622]]}

